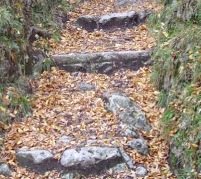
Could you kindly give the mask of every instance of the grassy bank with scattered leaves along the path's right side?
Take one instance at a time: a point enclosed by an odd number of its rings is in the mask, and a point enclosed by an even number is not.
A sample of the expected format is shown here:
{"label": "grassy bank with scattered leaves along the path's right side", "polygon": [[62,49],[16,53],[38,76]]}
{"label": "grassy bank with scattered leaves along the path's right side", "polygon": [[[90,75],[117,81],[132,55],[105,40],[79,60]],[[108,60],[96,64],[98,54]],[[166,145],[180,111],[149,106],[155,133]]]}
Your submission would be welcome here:
{"label": "grassy bank with scattered leaves along the path's right side", "polygon": [[[163,1],[164,2],[164,1]],[[161,126],[178,178],[201,176],[201,1],[166,0],[149,19],[157,47],[152,81],[165,107]]]}

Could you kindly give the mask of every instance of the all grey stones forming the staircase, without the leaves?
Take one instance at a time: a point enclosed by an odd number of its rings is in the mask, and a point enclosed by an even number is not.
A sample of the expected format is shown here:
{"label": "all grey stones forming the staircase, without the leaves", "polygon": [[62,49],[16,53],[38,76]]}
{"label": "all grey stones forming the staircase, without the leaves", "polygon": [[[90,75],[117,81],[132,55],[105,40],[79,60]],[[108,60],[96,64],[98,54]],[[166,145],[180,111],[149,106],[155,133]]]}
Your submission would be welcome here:
{"label": "all grey stones forming the staircase, without the leaves", "polygon": [[[135,0],[115,1],[117,6],[133,4],[139,5]],[[135,28],[151,14],[150,10],[140,12],[126,11],[121,13],[110,13],[104,15],[82,15],[72,22],[77,28],[85,29],[88,33],[93,31],[113,31],[117,29],[124,31],[127,28]],[[73,38],[73,37],[72,37]],[[141,67],[150,64],[149,50],[128,50],[128,51],[106,51],[93,53],[61,53],[53,54],[54,65],[61,70],[66,70],[72,75],[73,72],[100,73],[111,75],[121,70],[139,70]],[[96,91],[96,86],[84,82],[80,84],[79,90]],[[102,94],[102,101],[105,109],[119,118],[117,128],[119,135],[128,137],[128,146],[139,155],[149,155],[149,147],[146,139],[140,132],[149,133],[151,125],[135,101],[122,92],[113,91]],[[68,144],[72,138],[62,136],[57,143]],[[109,139],[110,140],[110,139]],[[112,140],[112,139],[111,139]],[[97,144],[98,146],[94,146]],[[112,143],[112,141],[111,141]],[[101,140],[90,139],[85,144],[77,145],[76,148],[66,149],[60,160],[56,159],[54,153],[41,149],[18,149],[16,158],[22,167],[26,167],[37,173],[44,173],[51,170],[61,172],[61,178],[79,178],[81,175],[102,176],[110,171],[111,175],[119,172],[133,171],[135,177],[146,177],[148,170],[139,164],[135,164],[123,147],[116,144],[105,145]],[[89,177],[90,176],[90,177]],[[135,176],[135,177],[134,177]],[[92,177],[93,178],[93,177]]]}

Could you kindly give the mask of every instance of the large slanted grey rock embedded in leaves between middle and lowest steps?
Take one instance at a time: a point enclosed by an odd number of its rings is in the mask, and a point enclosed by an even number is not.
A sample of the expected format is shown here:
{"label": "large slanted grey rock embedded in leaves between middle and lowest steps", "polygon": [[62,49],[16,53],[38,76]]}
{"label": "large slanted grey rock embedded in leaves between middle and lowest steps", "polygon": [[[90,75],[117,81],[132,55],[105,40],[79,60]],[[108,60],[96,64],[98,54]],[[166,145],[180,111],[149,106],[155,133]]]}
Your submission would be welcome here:
{"label": "large slanted grey rock embedded in leaves between middle and lowest steps", "polygon": [[133,131],[137,129],[149,132],[151,130],[151,125],[146,120],[145,114],[125,94],[117,92],[104,93],[103,99],[106,102],[106,108],[114,114],[117,114]]}

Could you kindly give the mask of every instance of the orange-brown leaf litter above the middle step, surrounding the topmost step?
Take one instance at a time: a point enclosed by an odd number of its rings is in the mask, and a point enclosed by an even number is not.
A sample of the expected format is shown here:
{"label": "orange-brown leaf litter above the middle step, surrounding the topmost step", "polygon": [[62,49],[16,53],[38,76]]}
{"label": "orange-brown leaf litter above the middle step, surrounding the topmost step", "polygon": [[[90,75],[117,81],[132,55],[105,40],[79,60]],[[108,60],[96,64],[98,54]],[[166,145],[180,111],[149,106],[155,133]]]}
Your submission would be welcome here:
{"label": "orange-brown leaf litter above the middle step, surrounding the topmost step", "polygon": [[90,33],[73,25],[79,16],[87,14],[98,16],[131,10],[139,12],[162,9],[162,6],[153,0],[144,0],[140,3],[141,6],[117,7],[114,0],[85,1],[69,13],[71,20],[67,22],[66,29],[61,32],[60,41],[56,43],[54,39],[50,40],[51,54],[152,49],[155,46],[155,40],[149,34],[145,24],[125,30],[95,30]]}

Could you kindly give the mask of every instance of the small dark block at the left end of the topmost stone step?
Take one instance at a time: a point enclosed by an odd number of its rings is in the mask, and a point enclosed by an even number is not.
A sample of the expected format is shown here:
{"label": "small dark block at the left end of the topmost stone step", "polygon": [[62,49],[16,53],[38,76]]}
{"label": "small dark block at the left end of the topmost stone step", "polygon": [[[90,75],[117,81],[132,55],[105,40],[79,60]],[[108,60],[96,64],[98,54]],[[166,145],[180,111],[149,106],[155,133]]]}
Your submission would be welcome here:
{"label": "small dark block at the left end of the topmost stone step", "polygon": [[80,16],[77,19],[77,24],[89,32],[93,31],[94,29],[97,29],[98,27],[97,19],[95,18],[95,16],[91,15]]}

